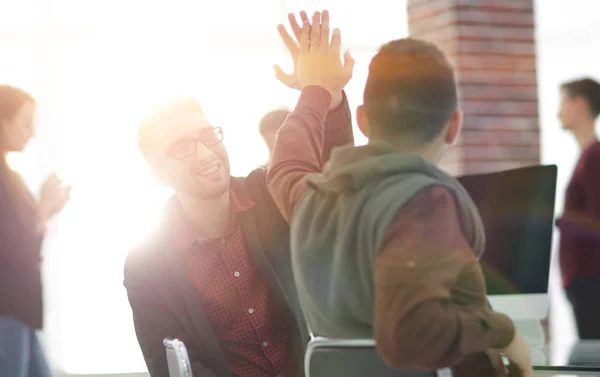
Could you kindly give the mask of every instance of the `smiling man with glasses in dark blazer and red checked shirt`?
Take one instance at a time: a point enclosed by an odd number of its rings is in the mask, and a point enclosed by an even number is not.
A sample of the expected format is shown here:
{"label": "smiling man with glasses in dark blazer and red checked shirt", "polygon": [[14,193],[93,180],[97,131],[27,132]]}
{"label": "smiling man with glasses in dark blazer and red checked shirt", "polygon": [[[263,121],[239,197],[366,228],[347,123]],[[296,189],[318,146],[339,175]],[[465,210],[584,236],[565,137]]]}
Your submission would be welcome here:
{"label": "smiling man with glasses in dark blazer and red checked shirt", "polygon": [[[293,16],[290,22],[299,33]],[[282,81],[294,87],[294,75]],[[153,377],[168,377],[164,338],[184,342],[195,376],[300,377],[309,334],[292,278],[288,225],[266,188],[266,169],[230,177],[222,140],[223,131],[192,99],[156,109],[139,129],[156,179],[175,195],[125,264],[137,338]],[[329,155],[352,142],[340,92],[323,145]]]}

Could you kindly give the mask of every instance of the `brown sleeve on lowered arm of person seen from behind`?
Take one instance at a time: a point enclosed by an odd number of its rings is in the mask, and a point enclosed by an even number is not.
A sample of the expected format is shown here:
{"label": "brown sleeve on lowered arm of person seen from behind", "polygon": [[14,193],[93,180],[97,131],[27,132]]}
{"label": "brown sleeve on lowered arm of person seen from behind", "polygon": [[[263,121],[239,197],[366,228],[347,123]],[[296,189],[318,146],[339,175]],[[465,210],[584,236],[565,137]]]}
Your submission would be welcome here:
{"label": "brown sleeve on lowered arm of person seen from behind", "polygon": [[452,299],[474,279],[485,287],[452,194],[434,186],[413,197],[376,259],[374,332],[383,358],[398,368],[438,369],[508,346],[515,332],[508,317],[487,302]]}

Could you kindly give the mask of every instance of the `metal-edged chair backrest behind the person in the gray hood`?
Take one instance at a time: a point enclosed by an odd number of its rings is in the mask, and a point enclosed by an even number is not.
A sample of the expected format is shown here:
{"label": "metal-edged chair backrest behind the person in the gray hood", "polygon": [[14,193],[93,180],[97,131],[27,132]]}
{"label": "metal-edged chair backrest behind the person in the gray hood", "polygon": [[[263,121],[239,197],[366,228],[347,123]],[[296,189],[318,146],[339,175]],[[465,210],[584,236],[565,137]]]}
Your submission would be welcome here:
{"label": "metal-edged chair backrest behind the person in the gray hood", "polygon": [[328,339],[308,343],[304,359],[306,377],[451,377],[439,371],[394,369],[383,361],[372,339]]}

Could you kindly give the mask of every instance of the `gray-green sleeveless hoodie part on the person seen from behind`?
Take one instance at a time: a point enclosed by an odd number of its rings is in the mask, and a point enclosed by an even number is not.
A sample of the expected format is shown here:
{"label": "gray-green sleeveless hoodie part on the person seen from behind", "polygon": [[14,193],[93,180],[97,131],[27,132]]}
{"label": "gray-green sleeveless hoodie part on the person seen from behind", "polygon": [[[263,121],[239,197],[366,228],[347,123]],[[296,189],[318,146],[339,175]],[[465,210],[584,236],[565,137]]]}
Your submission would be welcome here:
{"label": "gray-green sleeveless hoodie part on the person seen from behind", "polygon": [[373,273],[386,232],[402,207],[431,185],[458,204],[465,238],[478,256],[485,234],[466,190],[422,157],[384,142],[334,150],[291,223],[294,277],[309,327],[316,335],[373,338]]}

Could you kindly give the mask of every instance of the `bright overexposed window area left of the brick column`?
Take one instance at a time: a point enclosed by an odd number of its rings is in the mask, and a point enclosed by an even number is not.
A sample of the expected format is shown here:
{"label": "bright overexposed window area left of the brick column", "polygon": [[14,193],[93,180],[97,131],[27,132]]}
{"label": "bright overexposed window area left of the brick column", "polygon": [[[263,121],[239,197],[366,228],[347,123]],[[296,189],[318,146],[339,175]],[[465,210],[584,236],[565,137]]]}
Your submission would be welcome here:
{"label": "bright overexposed window area left of the brick column", "polygon": [[[286,13],[300,3],[5,3],[0,24],[14,33],[0,35],[0,83],[32,92],[39,103],[32,153],[11,163],[32,187],[53,169],[74,185],[44,249],[44,340],[52,362],[69,374],[143,371],[123,263],[170,191],[152,180],[135,143],[137,125],[159,102],[192,95],[223,127],[233,175],[263,164],[267,149],[258,121],[269,110],[293,108],[298,98],[273,75],[274,63],[291,66],[275,25],[286,23]],[[347,88],[352,111],[362,102],[377,47],[406,35],[403,2],[376,3],[301,4],[310,12],[320,10],[313,5],[329,8],[334,26],[343,29],[344,47],[356,59]],[[355,19],[363,24],[353,25]],[[27,26],[33,28],[25,33]],[[365,142],[356,135],[357,143]]]}

